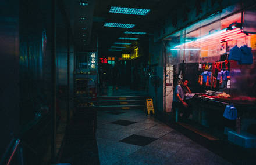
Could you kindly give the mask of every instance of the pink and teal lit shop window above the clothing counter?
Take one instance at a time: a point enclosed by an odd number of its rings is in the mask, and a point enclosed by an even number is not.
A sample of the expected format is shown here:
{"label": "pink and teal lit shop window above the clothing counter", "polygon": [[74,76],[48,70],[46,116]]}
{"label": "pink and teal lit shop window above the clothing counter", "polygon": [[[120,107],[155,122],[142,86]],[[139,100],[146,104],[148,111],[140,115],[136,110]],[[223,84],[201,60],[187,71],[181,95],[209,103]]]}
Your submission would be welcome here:
{"label": "pink and teal lit shop window above the clothing counter", "polygon": [[[243,32],[243,14],[224,16],[218,13],[166,38],[166,66],[175,67],[174,80],[182,78],[182,73],[195,92],[213,90],[217,92],[215,95],[226,96],[228,102],[235,102],[240,96],[243,97],[240,100],[246,101],[248,96],[253,100],[251,97],[256,95],[252,90],[256,89],[255,66],[253,61],[249,61],[250,65],[248,61],[241,62],[241,58],[250,56],[252,60],[256,35]],[[230,58],[230,50],[234,47],[239,50],[244,47],[249,55]]]}

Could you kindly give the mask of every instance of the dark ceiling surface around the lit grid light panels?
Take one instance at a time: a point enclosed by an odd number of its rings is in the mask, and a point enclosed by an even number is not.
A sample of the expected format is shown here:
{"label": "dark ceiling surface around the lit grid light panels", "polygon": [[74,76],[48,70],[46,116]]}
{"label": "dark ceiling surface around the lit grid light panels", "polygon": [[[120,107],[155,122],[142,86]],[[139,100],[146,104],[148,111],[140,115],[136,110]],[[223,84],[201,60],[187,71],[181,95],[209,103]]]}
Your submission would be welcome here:
{"label": "dark ceiling surface around the lit grid light panels", "polygon": [[[63,1],[66,3],[77,50],[83,52],[94,49],[97,47],[95,43],[98,36],[99,56],[120,53],[108,51],[111,46],[124,46],[114,45],[114,42],[130,42],[120,40],[119,37],[139,38],[138,41],[132,41],[132,45],[125,46],[126,49],[123,50],[126,52],[133,49],[139,42],[148,42],[148,35],[152,34],[155,28],[165,25],[166,16],[176,8],[178,3],[174,0],[88,0],[88,5],[81,6],[79,4],[81,0]],[[185,0],[180,0],[179,4],[182,3],[181,1]],[[146,16],[109,13],[111,6],[150,9],[150,12]],[[81,16],[86,17],[87,20],[80,20]],[[135,24],[135,27],[132,29],[104,27],[105,22]],[[124,34],[125,31],[147,32],[147,34]]]}

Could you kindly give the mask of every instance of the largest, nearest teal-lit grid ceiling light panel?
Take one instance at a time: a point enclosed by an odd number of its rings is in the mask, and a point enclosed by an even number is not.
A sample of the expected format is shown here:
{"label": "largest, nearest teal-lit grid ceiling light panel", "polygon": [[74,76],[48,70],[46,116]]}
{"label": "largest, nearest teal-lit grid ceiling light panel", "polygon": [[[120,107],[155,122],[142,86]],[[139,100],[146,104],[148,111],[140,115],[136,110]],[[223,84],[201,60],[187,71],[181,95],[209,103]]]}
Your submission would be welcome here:
{"label": "largest, nearest teal-lit grid ceiling light panel", "polygon": [[148,12],[150,12],[150,9],[123,8],[123,7],[116,7],[116,6],[111,6],[109,10],[109,13],[133,14],[133,15],[140,15],[140,16],[145,16],[147,15]]}

